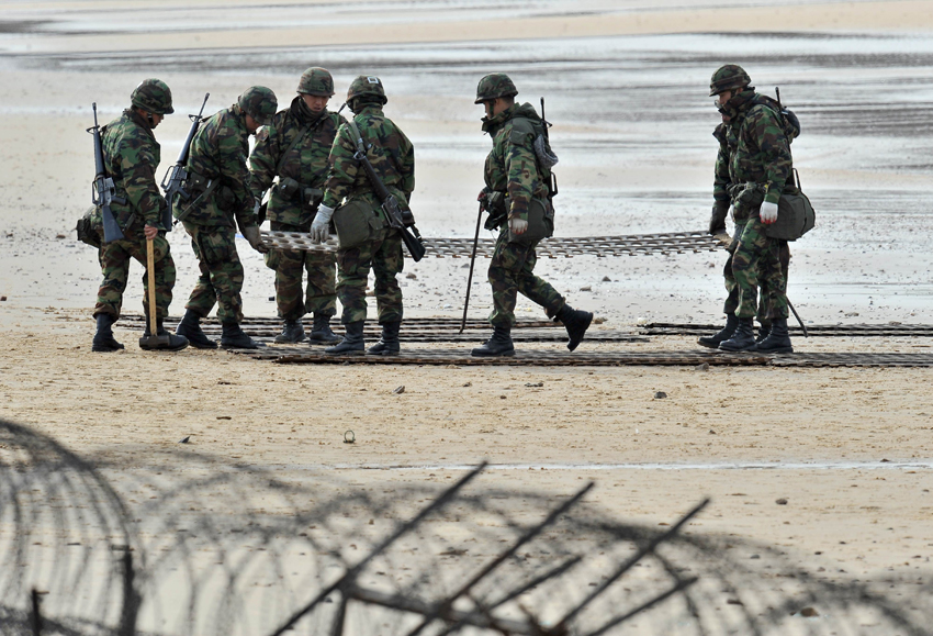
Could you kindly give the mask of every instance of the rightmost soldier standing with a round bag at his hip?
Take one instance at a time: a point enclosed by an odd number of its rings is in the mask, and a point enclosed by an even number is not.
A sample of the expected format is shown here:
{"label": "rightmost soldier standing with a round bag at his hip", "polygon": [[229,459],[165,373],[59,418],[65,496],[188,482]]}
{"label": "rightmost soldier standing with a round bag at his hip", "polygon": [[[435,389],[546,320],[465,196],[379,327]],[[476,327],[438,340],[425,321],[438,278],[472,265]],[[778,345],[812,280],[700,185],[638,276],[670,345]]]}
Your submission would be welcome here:
{"label": "rightmost soldier standing with a round bag at his hip", "polygon": [[[729,292],[726,327],[699,344],[727,352],[790,353],[786,295],[790,254],[787,242],[765,235],[765,225],[777,220],[777,203],[791,179],[790,142],[799,127],[786,122],[777,103],[756,93],[751,82],[740,66],[729,64],[712,75],[709,87],[722,115],[713,133],[719,154],[709,231],[724,232],[726,214],[731,212],[735,237],[723,271]],[[757,315],[766,336],[756,343],[752,321],[760,280]]]}

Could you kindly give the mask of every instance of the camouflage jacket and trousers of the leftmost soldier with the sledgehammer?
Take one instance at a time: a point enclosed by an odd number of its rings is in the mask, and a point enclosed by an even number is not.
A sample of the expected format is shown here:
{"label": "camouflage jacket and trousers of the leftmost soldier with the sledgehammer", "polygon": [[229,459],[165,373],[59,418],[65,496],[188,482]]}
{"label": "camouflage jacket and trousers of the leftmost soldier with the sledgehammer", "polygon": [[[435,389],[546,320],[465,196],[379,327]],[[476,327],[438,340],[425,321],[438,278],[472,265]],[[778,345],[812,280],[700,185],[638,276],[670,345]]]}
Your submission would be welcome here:
{"label": "camouflage jacket and trousers of the leftmost soldier with the sledgehammer", "polygon": [[[169,98],[170,99],[170,98]],[[98,290],[94,316],[105,313],[120,317],[123,291],[130,274],[130,260],[135,258],[146,267],[146,237],[143,226],[160,227],[166,200],[156,183],[160,147],[153,129],[135,110],[123,111],[120,119],[103,129],[104,164],[113,178],[115,200],[111,212],[123,230],[124,238],[101,244],[98,252],[103,282]],[[175,287],[175,261],[171,258],[165,228],[153,241],[156,270],[156,312],[159,319],[168,315]],[[143,308],[149,315],[149,280],[143,274]]]}

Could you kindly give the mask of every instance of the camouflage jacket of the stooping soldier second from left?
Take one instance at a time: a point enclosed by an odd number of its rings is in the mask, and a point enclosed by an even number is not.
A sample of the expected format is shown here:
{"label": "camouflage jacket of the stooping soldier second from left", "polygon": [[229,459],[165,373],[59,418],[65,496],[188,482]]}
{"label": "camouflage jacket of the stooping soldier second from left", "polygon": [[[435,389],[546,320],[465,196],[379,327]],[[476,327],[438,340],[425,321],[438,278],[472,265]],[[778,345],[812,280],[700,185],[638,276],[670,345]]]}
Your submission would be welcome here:
{"label": "camouflage jacket of the stooping soldier second from left", "polygon": [[[176,200],[172,210],[176,217],[191,208],[184,221],[195,225],[233,226],[234,217],[240,230],[256,225],[246,167],[248,140],[246,114],[237,104],[204,120],[191,141],[188,156],[187,187],[192,198]],[[220,182],[210,196],[202,197],[203,186],[192,186],[195,178],[204,182],[220,179]]]}

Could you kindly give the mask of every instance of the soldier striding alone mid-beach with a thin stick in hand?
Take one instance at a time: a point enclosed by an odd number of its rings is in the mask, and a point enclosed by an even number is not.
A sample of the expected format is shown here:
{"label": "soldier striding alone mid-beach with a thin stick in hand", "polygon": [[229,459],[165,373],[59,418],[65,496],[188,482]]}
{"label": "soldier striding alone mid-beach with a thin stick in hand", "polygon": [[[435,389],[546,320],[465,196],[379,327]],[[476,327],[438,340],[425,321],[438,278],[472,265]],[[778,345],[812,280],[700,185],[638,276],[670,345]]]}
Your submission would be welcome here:
{"label": "soldier striding alone mid-beach with a thin stick in hand", "polygon": [[480,192],[480,201],[490,211],[486,228],[501,230],[488,272],[493,287],[490,315],[493,336],[473,349],[474,356],[515,355],[512,327],[518,292],[543,306],[549,317],[564,324],[570,350],[580,345],[593,321],[592,313],[573,309],[548,281],[535,276],[538,242],[521,238],[528,230],[529,209],[533,204],[543,207],[553,217],[549,183],[550,166],[555,157],[542,165],[542,153],[536,146],[544,142],[544,125],[531,104],[515,103],[516,94],[518,90],[503,72],[487,75],[476,87],[474,103],[486,109],[483,132],[493,140],[493,149],[486,157],[486,187]]}

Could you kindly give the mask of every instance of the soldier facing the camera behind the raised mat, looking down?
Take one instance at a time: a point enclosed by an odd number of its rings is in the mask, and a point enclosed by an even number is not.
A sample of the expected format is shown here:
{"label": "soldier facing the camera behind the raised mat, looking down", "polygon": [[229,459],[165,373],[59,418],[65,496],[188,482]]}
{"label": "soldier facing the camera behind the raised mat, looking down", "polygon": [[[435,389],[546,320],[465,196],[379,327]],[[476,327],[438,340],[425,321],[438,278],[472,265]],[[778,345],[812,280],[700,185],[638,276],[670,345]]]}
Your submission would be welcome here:
{"label": "soldier facing the camera behind the raised mat, looking down", "polygon": [[[256,136],[249,157],[252,196],[257,201],[278,176],[269,199],[269,219],[277,232],[308,232],[324,196],[330,167],[327,158],[344,118],[327,110],[334,96],[334,79],[323,68],[308,68],[301,76],[299,96],[279,111],[272,123]],[[301,319],[314,314],[308,339],[335,343],[330,316],[337,313],[336,260],[333,252],[273,250],[266,265],[276,270],[276,302],[284,321],[277,343],[305,339]],[[302,272],[307,270],[307,293],[302,293]],[[304,298],[303,298],[304,297]]]}

